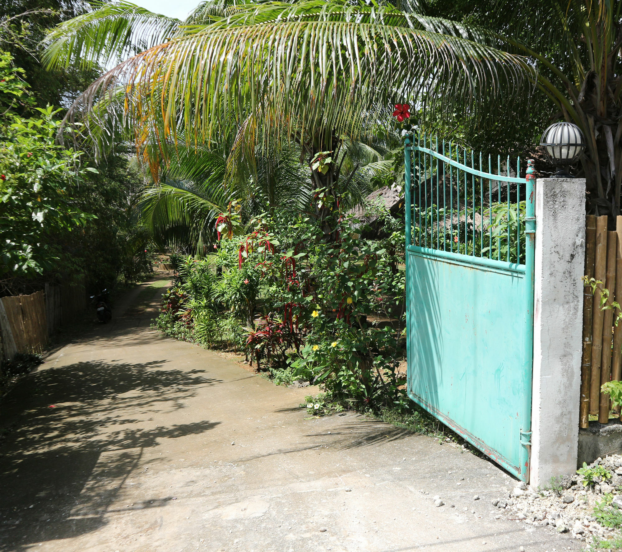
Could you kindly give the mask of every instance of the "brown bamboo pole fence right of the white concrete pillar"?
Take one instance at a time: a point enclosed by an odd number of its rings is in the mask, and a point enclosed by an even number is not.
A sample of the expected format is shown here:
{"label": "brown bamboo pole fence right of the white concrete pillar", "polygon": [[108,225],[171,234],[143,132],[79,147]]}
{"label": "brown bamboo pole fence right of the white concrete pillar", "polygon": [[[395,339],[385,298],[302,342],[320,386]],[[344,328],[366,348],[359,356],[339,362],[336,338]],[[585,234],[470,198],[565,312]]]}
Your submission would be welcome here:
{"label": "brown bamboo pole fence right of the white concrete pillar", "polygon": [[600,308],[603,288],[609,291],[608,304],[622,305],[622,216],[616,230],[608,231],[606,216],[585,219],[585,275],[598,283],[583,292],[583,354],[579,425],[587,428],[590,416],[600,423],[609,421],[611,403],[600,386],[622,377],[622,321],[615,326],[620,311]]}

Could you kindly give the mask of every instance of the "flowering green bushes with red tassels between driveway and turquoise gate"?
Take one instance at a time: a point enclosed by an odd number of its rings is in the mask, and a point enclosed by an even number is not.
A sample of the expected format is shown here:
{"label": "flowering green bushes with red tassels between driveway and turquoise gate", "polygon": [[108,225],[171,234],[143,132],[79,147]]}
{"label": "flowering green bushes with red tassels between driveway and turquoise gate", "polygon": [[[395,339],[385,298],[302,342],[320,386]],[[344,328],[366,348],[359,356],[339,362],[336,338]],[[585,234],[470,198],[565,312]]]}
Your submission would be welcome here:
{"label": "flowering green bushes with red tassels between driveway and turquoise gate", "polygon": [[[274,209],[243,234],[239,224],[228,231],[236,213],[218,218],[213,260],[175,259],[177,287],[164,296],[159,327],[210,347],[243,346],[276,382],[322,385],[327,403],[406,409],[396,371],[404,345],[401,222],[386,214],[388,237],[368,240],[359,221],[337,209],[330,220]],[[394,323],[374,324],[378,316]]]}

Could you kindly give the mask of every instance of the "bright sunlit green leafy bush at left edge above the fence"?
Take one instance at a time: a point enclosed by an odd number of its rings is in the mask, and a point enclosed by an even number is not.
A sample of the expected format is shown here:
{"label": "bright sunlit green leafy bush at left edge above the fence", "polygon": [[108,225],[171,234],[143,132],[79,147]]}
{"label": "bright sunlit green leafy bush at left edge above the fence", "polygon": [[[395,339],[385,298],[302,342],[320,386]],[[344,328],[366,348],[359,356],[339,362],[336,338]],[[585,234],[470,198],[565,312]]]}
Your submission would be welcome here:
{"label": "bright sunlit green leafy bush at left edge above the fence", "polygon": [[[24,71],[12,67],[0,52],[0,107],[28,97]],[[32,275],[56,269],[60,262],[75,267],[72,255],[58,244],[68,232],[85,228],[95,218],[74,200],[80,183],[95,168],[81,168],[81,152],[56,142],[60,110],[35,108],[38,117],[24,118],[10,109],[0,114],[0,275]]]}

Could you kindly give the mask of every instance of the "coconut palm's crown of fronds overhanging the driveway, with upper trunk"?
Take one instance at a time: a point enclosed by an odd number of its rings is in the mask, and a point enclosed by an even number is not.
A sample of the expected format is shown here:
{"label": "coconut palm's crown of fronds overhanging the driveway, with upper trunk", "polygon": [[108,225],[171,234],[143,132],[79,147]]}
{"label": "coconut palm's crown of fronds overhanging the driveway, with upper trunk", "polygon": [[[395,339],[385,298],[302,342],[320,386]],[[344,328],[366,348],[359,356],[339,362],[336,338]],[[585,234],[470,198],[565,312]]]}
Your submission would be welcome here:
{"label": "coconut palm's crown of fronds overhanging the driveway, with upper trunk", "polygon": [[536,79],[526,58],[407,0],[208,0],[184,22],[129,2],[95,4],[53,30],[45,62],[118,63],[67,119],[81,113],[91,129],[131,132],[151,163],[164,156],[149,152],[180,134],[191,148],[230,141],[230,159],[249,165],[248,152],[296,147],[312,193],[327,192],[320,217],[353,180],[340,178],[343,148],[371,139],[391,104],[434,98],[431,108],[490,117]]}

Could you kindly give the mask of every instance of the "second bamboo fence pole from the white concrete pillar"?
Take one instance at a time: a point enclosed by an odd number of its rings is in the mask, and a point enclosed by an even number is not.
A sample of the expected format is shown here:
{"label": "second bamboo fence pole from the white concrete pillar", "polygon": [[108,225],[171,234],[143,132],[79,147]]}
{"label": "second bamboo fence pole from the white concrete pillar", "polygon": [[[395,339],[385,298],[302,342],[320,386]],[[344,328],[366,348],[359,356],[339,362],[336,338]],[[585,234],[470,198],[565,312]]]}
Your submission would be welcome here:
{"label": "second bamboo fence pole from the white concrete pillar", "polygon": [[[596,218],[596,254],[594,278],[605,282],[607,276],[607,217]],[[600,309],[600,290],[604,283],[599,283],[594,292],[592,313],[592,374],[590,378],[590,414],[598,415],[600,406],[600,362],[603,347],[603,315]]]}

